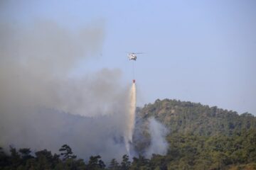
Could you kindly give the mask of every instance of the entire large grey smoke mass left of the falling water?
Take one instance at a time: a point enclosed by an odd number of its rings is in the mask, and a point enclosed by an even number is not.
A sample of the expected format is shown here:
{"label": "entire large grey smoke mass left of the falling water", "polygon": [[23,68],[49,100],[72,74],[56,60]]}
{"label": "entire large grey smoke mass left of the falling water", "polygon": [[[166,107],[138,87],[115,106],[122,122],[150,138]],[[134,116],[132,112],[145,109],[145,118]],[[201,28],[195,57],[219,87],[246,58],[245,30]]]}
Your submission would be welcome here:
{"label": "entire large grey smoke mass left of the falling water", "polygon": [[1,147],[58,152],[67,143],[85,159],[127,154],[129,90],[119,82],[121,71],[68,77],[76,62],[101,49],[102,26],[70,31],[52,21],[0,23],[0,37]]}

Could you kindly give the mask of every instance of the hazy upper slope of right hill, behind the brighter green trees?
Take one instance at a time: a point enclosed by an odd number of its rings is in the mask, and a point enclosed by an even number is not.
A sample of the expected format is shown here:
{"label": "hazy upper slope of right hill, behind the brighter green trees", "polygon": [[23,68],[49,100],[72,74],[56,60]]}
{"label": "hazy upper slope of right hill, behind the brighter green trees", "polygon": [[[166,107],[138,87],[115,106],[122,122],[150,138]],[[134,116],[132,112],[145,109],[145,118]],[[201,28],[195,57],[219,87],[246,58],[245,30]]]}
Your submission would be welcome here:
{"label": "hazy upper slope of right hill, behind the brighter green trees", "polygon": [[140,118],[154,116],[169,128],[171,133],[193,133],[194,135],[233,135],[242,129],[256,128],[256,118],[250,113],[238,115],[216,106],[201,103],[159,99],[138,111]]}

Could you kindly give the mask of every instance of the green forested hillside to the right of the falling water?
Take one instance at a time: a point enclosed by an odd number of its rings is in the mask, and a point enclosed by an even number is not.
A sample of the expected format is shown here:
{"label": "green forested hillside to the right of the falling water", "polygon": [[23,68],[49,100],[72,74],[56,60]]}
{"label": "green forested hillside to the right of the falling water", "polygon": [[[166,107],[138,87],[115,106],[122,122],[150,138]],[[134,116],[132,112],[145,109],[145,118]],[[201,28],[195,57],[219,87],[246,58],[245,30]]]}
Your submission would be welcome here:
{"label": "green forested hillside to the right of the falling water", "polygon": [[140,154],[150,145],[149,118],[169,130],[162,167],[166,162],[168,169],[256,169],[256,118],[250,113],[164,99],[138,108],[137,115],[137,128],[144,127],[134,145]]}

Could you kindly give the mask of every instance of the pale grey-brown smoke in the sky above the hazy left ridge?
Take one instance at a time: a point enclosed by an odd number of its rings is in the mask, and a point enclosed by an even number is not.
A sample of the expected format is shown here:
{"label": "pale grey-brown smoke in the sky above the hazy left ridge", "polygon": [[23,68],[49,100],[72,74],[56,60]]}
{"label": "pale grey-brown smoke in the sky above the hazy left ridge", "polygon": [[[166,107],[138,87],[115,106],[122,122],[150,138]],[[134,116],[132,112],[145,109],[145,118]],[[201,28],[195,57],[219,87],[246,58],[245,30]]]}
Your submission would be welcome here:
{"label": "pale grey-brown smoke in the sky above the hazy left ridge", "polygon": [[8,100],[92,115],[109,107],[99,103],[117,101],[118,69],[68,79],[75,62],[101,49],[103,28],[92,26],[75,34],[50,21],[31,25],[14,28],[1,23],[1,103]]}

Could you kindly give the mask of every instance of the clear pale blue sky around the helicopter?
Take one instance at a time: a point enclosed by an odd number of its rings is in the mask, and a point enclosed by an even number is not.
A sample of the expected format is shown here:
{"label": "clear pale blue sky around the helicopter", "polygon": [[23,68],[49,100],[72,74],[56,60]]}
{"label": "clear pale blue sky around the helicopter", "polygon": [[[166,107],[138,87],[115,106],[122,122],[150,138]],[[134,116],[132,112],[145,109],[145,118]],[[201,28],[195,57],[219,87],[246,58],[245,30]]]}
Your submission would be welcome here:
{"label": "clear pale blue sky around the helicopter", "polygon": [[[80,61],[79,77],[121,69],[138,105],[176,98],[256,115],[256,1],[0,1],[0,20],[14,26],[50,20],[76,30],[102,26],[102,52]],[[1,57],[1,56],[0,56]],[[111,79],[111,77],[110,77]]]}

